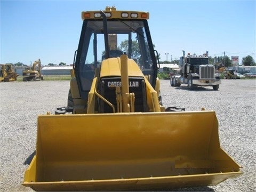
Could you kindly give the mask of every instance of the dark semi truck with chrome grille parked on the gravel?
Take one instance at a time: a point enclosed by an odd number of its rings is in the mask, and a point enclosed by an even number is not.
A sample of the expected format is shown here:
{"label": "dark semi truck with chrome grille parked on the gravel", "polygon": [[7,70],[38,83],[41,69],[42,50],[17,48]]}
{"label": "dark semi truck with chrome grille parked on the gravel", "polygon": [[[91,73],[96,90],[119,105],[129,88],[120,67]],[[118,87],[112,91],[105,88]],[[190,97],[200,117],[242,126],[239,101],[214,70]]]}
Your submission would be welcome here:
{"label": "dark semi truck with chrome grille parked on the gravel", "polygon": [[185,55],[180,58],[180,74],[170,78],[171,86],[187,84],[190,90],[196,86],[212,86],[213,90],[218,90],[221,79],[215,74],[215,67],[209,65],[208,52],[203,55]]}

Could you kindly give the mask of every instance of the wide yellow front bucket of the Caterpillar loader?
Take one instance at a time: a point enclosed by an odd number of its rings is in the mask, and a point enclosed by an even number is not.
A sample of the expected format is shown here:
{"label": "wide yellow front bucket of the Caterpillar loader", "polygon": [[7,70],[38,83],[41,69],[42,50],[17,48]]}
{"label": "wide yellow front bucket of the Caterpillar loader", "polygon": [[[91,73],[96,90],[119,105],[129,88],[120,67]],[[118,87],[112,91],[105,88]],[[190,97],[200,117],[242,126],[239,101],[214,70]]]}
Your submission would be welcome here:
{"label": "wide yellow front bucket of the Caterpillar loader", "polygon": [[38,116],[22,185],[95,191],[215,185],[241,175],[214,111]]}

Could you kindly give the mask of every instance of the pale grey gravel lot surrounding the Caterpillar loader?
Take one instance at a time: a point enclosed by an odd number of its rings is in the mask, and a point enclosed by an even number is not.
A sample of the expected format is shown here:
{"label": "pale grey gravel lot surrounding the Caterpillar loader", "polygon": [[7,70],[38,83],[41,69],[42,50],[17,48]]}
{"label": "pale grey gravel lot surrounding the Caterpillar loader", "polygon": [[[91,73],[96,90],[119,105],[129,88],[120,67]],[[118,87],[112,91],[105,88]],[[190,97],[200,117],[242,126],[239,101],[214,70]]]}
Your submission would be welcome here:
{"label": "pale grey gravel lot surrounding the Caterpillar loader", "polygon": [[[36,149],[37,115],[67,104],[69,81],[0,83],[1,167],[0,191],[34,191],[21,186]],[[212,87],[171,87],[161,80],[163,105],[186,111],[214,110],[219,120],[221,146],[243,166],[244,174],[217,186],[178,189],[185,191],[256,190],[256,80],[222,79]]]}

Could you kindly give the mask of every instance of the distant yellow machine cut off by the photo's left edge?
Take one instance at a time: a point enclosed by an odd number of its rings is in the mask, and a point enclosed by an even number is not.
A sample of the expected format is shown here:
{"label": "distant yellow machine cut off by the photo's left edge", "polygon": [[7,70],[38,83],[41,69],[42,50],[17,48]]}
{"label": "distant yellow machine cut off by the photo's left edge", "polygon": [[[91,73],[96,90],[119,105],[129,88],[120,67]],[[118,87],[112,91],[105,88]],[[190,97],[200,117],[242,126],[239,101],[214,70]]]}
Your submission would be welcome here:
{"label": "distant yellow machine cut off by the photo's left edge", "polygon": [[17,81],[18,76],[11,64],[0,65],[0,82]]}

